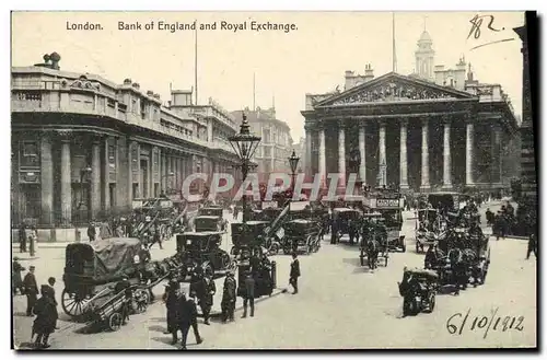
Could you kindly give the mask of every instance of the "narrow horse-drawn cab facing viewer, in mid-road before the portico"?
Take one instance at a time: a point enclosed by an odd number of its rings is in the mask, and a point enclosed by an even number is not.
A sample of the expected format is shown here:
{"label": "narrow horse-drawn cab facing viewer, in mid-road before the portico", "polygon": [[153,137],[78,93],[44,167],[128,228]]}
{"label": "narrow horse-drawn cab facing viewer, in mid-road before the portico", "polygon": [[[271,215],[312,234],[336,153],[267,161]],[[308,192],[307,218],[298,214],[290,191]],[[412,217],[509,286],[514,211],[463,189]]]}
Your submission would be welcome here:
{"label": "narrow horse-drawn cab facing viewer, in mid-road before the portico", "polygon": [[387,266],[389,246],[385,228],[380,223],[382,214],[379,212],[364,213],[362,219],[361,241],[359,243],[361,266],[364,266],[364,258],[366,258],[366,264],[371,270],[377,267],[380,258],[383,258],[384,266]]}

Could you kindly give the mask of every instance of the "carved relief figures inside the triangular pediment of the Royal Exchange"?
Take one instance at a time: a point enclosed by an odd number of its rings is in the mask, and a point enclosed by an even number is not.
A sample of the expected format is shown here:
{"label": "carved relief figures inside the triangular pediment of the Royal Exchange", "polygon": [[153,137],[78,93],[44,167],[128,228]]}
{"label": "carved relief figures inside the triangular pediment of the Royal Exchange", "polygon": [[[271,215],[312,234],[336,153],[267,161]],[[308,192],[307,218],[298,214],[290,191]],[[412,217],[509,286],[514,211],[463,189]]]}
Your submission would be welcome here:
{"label": "carved relief figures inside the triangular pediment of the Royal Exchange", "polygon": [[455,98],[455,96],[426,86],[389,82],[364,89],[334,102],[333,105],[435,98]]}

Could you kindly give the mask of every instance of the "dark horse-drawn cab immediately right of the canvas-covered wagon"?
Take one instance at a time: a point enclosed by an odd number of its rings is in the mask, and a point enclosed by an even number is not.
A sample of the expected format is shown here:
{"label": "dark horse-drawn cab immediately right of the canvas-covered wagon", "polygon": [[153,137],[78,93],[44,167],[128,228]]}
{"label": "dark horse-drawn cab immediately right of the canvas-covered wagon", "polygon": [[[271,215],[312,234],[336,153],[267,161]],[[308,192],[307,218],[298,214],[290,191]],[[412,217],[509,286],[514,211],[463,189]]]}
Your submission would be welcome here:
{"label": "dark horse-drawn cab immediately right of the canvas-covered wagon", "polygon": [[213,278],[235,268],[230,254],[222,248],[223,232],[186,232],[176,236],[176,252],[182,260],[181,277],[186,279],[197,268]]}

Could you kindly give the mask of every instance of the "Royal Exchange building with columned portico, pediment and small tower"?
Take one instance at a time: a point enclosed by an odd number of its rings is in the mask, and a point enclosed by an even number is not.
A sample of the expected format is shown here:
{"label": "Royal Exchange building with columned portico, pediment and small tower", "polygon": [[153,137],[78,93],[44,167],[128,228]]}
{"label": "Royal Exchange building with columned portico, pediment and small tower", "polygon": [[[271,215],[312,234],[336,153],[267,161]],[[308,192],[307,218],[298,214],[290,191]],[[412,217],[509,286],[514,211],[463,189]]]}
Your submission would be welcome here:
{"label": "Royal Exchange building with columned portico, pediment and small tower", "polygon": [[509,186],[517,125],[501,85],[474,79],[463,58],[433,67],[426,31],[415,56],[410,76],[375,78],[366,65],[363,76],[346,71],[342,92],[306,94],[309,175],[358,173],[366,185],[415,191]]}

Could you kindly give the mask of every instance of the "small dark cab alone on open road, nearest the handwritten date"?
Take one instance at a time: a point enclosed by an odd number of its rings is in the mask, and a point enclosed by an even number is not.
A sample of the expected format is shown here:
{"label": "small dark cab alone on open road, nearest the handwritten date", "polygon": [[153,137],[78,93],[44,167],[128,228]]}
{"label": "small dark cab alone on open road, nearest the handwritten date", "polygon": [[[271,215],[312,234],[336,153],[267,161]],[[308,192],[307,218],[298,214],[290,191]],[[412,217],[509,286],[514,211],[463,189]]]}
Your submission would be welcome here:
{"label": "small dark cab alone on open road, nearest the handwritten date", "polygon": [[403,315],[431,313],[435,307],[438,281],[439,275],[432,270],[405,268],[403,281],[398,283],[399,293],[404,298]]}

